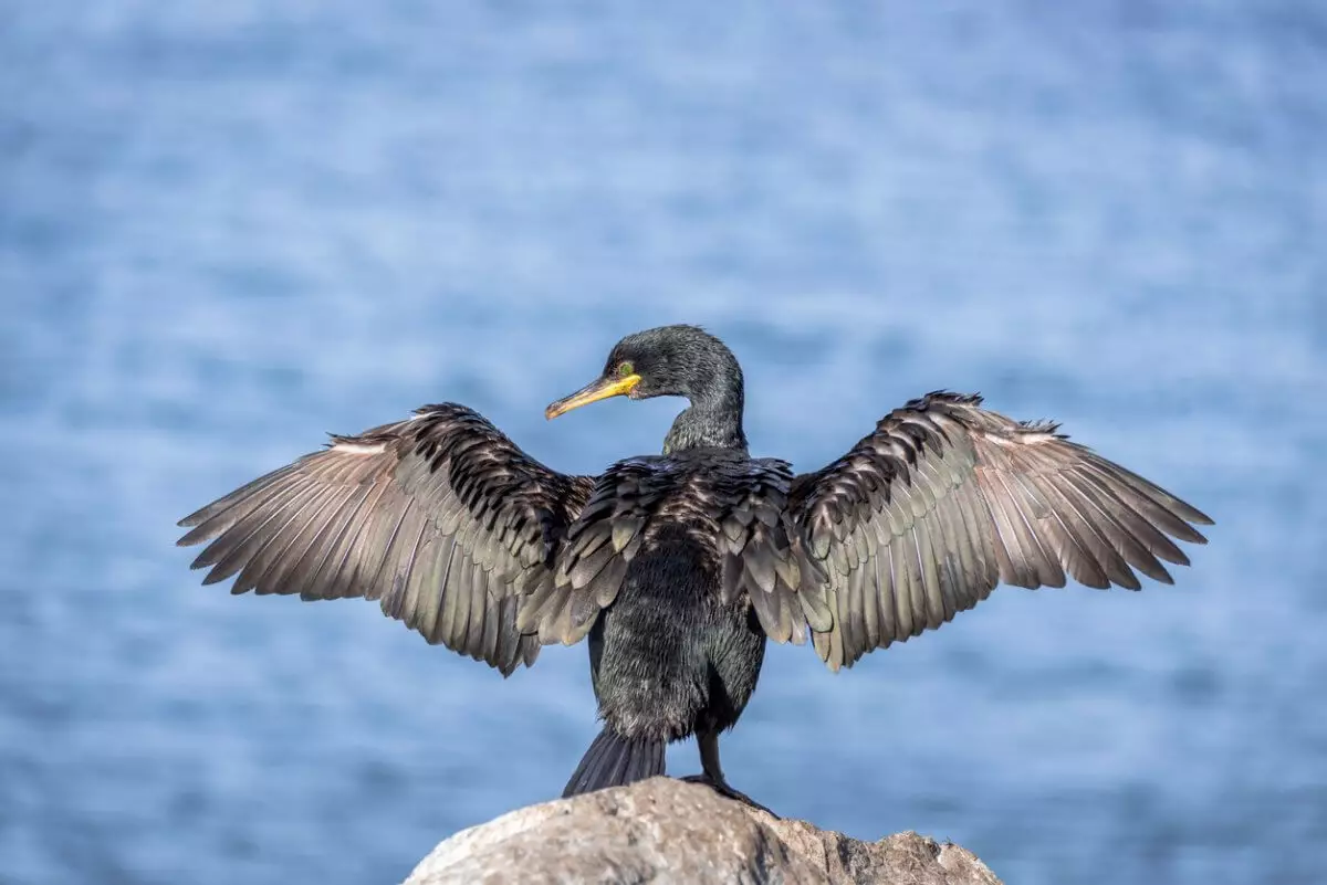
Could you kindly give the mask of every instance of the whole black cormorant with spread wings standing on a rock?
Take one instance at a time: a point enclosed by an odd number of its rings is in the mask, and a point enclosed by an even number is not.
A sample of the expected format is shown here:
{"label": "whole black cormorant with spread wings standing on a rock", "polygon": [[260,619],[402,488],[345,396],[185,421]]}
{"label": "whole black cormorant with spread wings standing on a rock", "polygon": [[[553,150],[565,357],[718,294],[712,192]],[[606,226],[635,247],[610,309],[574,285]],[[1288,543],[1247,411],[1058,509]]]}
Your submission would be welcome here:
{"label": "whole black cormorant with spread wings standing on a rock", "polygon": [[[752,458],[742,370],[693,326],[628,335],[549,419],[609,396],[683,396],[664,454],[598,477],[535,461],[464,405],[427,405],[307,454],[180,522],[203,583],[364,596],[503,676],[589,637],[604,729],[564,795],[664,774],[695,735],[703,775],[755,690],[766,640],[809,636],[831,670],[936,628],[999,583],[1139,590],[1188,564],[1202,513],[1055,424],[934,392],[820,470]],[[754,803],[752,803],[754,804]]]}

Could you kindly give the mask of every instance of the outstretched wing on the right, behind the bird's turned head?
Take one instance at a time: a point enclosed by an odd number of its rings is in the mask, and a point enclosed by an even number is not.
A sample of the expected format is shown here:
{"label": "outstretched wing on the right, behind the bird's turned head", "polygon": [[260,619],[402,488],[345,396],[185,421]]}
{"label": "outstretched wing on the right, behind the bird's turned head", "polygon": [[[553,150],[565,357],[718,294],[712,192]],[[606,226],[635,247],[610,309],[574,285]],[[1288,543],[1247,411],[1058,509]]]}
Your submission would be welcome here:
{"label": "outstretched wing on the right, behind the bird's turned head", "polygon": [[[1212,519],[1143,477],[1018,423],[979,396],[936,392],[890,412],[823,470],[799,476],[790,511],[824,563],[831,669],[936,628],[1001,582],[1139,590],[1188,564],[1170,537],[1206,543]],[[1170,535],[1170,537],[1168,537]]]}

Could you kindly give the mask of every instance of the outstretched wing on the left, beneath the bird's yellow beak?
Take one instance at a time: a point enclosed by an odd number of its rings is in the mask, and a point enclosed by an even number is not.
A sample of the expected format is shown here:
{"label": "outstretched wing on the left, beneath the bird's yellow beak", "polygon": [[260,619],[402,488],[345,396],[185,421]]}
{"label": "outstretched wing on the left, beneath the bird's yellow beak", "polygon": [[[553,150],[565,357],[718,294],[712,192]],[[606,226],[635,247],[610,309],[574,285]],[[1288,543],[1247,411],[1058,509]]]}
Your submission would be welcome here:
{"label": "outstretched wing on the left, beneath the bird's yellow beak", "polygon": [[516,629],[593,481],[549,470],[463,405],[426,405],[307,454],[180,521],[211,543],[204,584],[234,594],[364,596],[429,643],[510,674],[539,637]]}

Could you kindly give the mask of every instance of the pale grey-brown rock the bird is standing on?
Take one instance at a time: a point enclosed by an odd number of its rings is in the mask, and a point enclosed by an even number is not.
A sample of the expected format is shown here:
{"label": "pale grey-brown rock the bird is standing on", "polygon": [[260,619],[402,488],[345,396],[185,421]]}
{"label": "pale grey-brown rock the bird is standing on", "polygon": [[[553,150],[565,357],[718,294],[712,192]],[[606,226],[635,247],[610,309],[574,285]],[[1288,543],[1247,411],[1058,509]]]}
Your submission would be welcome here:
{"label": "pale grey-brown rock the bird is standing on", "polygon": [[405,885],[445,882],[1001,885],[958,845],[912,832],[864,843],[670,778],[531,806],[463,829],[434,848]]}

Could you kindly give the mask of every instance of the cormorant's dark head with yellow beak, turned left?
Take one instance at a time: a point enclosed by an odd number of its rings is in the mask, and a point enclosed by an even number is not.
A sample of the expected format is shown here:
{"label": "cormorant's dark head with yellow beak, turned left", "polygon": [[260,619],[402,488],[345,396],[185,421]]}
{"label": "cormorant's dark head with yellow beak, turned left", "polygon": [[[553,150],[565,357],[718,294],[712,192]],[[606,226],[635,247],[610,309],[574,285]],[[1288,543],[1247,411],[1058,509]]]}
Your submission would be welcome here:
{"label": "cormorant's dark head with yellow beak, turned left", "polygon": [[698,405],[733,393],[740,409],[742,370],[722,340],[697,326],[660,326],[617,342],[604,372],[571,396],[551,403],[544,416],[555,419],[609,396],[633,400],[685,396]]}

